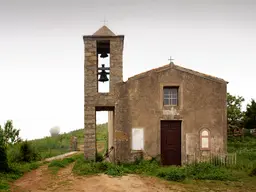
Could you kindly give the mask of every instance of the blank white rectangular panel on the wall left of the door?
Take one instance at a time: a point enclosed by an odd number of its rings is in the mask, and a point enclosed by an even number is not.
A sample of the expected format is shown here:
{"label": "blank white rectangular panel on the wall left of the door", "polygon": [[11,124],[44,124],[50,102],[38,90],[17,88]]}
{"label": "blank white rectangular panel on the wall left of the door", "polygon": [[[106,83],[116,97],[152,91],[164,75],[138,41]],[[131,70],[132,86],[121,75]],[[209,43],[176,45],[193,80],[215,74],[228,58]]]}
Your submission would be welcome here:
{"label": "blank white rectangular panel on the wall left of the door", "polygon": [[132,129],[132,150],[144,149],[144,131],[143,128]]}

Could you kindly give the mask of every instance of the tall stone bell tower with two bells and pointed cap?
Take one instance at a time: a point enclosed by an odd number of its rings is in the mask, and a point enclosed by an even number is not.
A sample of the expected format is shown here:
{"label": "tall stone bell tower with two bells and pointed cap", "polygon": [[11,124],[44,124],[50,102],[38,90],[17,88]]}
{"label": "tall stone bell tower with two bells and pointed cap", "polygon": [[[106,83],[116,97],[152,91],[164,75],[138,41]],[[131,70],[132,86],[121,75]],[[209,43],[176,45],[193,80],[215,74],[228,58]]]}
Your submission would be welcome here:
{"label": "tall stone bell tower with two bells and pointed cap", "polygon": [[[93,35],[83,36],[83,40],[84,155],[85,159],[95,160],[96,111],[110,111],[112,112],[112,115],[115,116],[114,111],[116,101],[114,87],[117,83],[123,82],[124,35],[115,35],[104,25]],[[106,63],[103,63],[105,59],[108,59],[109,61],[108,66],[106,66]],[[99,92],[99,82],[109,82],[109,92]],[[113,133],[113,130],[109,132]],[[109,139],[110,138],[113,139],[113,135],[109,135]],[[112,144],[114,143],[113,141],[109,142]]]}

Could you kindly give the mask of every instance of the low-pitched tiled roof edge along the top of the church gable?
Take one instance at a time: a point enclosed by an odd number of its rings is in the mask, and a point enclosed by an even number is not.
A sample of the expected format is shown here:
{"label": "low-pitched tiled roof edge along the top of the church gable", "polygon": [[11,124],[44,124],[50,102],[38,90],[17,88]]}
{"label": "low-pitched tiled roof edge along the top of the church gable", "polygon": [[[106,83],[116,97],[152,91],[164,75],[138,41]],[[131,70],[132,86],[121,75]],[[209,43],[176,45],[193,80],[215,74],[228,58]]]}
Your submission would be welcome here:
{"label": "low-pitched tiled roof edge along the top of the church gable", "polygon": [[144,76],[146,76],[146,75],[148,75],[148,74],[150,74],[152,72],[161,72],[161,71],[165,71],[165,70],[168,70],[168,69],[171,69],[171,68],[179,70],[179,71],[187,72],[187,73],[190,73],[190,74],[193,74],[193,75],[196,75],[196,76],[200,76],[200,77],[203,77],[203,78],[206,78],[206,79],[209,79],[209,80],[218,81],[218,82],[222,82],[222,83],[228,83],[224,79],[221,79],[221,78],[218,78],[218,77],[214,77],[214,76],[211,76],[211,75],[207,75],[207,74],[204,74],[204,73],[200,73],[198,71],[194,71],[194,70],[191,70],[191,69],[187,69],[187,68],[181,67],[179,65],[175,65],[173,63],[172,64],[167,64],[167,65],[163,65],[161,67],[154,68],[154,69],[151,69],[149,71],[137,74],[135,76],[132,76],[132,77],[128,78],[128,81],[132,80],[132,79],[137,79],[137,78],[144,77]]}

